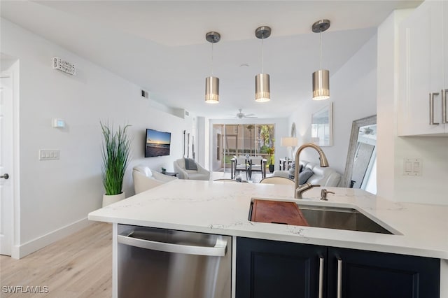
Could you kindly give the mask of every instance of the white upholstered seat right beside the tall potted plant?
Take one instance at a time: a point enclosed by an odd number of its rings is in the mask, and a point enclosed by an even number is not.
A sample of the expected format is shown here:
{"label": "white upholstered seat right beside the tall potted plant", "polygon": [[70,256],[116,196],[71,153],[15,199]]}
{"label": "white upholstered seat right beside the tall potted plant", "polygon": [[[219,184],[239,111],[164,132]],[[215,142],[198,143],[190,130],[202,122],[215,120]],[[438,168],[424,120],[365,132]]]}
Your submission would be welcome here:
{"label": "white upholstered seat right beside the tall potted plant", "polygon": [[132,169],[132,179],[134,180],[135,194],[139,194],[140,192],[176,180],[177,178],[151,171],[148,166],[139,164]]}

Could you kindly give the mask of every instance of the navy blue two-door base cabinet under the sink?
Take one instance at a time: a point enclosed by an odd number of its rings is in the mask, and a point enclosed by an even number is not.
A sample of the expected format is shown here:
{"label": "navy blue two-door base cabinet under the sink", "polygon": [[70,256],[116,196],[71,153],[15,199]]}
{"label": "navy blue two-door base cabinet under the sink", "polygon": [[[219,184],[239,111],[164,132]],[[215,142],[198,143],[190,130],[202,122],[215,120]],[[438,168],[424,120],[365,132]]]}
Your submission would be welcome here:
{"label": "navy blue two-door base cabinet under the sink", "polygon": [[239,237],[236,264],[236,298],[440,296],[428,257]]}

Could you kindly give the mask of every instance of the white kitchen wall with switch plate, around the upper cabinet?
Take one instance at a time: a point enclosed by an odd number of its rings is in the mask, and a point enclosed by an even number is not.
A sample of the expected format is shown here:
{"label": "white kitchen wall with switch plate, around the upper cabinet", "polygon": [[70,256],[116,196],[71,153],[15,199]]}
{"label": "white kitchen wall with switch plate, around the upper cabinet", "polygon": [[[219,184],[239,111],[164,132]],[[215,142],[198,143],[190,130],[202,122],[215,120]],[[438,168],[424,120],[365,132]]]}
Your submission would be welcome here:
{"label": "white kitchen wall with switch plate, around the upper cabinet", "polygon": [[[395,10],[378,29],[378,195],[394,201],[448,204],[448,138],[398,137],[398,24]],[[403,159],[420,158],[422,176],[404,176]]]}

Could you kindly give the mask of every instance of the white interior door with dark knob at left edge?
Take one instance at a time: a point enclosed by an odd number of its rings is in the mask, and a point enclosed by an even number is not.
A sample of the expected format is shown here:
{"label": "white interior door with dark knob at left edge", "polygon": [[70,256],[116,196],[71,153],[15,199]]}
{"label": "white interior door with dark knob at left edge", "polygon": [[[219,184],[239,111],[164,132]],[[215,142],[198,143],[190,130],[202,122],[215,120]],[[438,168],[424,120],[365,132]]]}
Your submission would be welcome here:
{"label": "white interior door with dark knob at left edge", "polygon": [[0,76],[0,254],[11,255],[13,235],[13,78]]}

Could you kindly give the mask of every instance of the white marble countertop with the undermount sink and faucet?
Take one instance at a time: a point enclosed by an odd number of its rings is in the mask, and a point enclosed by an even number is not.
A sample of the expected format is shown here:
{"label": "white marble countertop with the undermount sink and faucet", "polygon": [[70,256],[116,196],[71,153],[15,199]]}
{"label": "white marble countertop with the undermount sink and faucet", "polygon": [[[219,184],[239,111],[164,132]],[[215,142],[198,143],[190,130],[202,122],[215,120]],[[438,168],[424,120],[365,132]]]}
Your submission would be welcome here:
{"label": "white marble countertop with the undermount sink and faucet", "polygon": [[[321,187],[302,204],[356,206],[399,234],[277,225],[248,221],[251,198],[293,198],[292,185],[174,180],[89,213],[89,220],[244,236],[448,260],[448,206],[395,203],[363,190]],[[392,231],[392,232],[393,232]]]}

